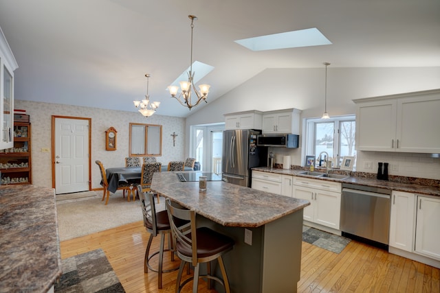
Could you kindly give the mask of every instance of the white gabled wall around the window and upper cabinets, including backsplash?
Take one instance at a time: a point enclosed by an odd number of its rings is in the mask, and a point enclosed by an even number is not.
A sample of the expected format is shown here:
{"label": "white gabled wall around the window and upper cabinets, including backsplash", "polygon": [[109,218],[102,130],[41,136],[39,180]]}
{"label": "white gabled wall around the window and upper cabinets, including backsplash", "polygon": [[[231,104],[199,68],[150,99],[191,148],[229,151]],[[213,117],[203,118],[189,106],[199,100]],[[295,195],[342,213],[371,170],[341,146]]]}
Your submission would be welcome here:
{"label": "white gabled wall around the window and upper cabinets, including backsplash", "polygon": [[[429,89],[440,89],[440,67],[338,68],[330,65],[327,68],[327,110],[330,115],[354,114],[352,99]],[[189,133],[191,125],[223,122],[223,114],[243,110],[298,108],[303,110],[302,119],[320,117],[324,111],[324,99],[325,67],[266,69],[217,100],[211,101],[208,96],[208,106],[186,119],[186,132]],[[187,137],[187,149],[188,145]],[[300,149],[276,152],[276,163],[283,163],[283,155],[290,155],[292,164],[300,165],[304,156]],[[375,173],[377,170],[374,168],[363,169],[363,162],[372,161],[377,165],[384,160],[399,165],[398,171],[390,171],[391,175],[440,178],[439,159],[420,154],[391,157],[383,153],[358,152],[358,171]],[[408,167],[408,161],[416,166]]]}

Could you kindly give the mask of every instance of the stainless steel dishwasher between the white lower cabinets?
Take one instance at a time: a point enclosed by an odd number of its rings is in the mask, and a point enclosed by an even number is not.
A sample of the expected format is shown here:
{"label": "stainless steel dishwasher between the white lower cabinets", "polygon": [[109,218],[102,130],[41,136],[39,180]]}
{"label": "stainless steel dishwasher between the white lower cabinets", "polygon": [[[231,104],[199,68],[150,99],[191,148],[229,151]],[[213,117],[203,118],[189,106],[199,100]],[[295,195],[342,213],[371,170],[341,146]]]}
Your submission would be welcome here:
{"label": "stainless steel dishwasher between the white lower cabinets", "polygon": [[391,190],[388,189],[342,183],[342,235],[354,235],[388,246],[390,198]]}

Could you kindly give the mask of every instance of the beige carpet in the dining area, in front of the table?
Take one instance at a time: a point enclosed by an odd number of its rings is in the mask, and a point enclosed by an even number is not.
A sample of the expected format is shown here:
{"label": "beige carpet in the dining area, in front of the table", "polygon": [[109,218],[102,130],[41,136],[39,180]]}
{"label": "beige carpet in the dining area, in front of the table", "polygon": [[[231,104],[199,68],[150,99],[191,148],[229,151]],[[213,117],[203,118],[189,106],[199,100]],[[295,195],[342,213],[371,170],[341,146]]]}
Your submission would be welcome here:
{"label": "beige carpet in the dining area, in front of the table", "polygon": [[107,205],[101,198],[56,201],[60,241],[143,220],[139,199],[128,202],[122,191],[111,194]]}

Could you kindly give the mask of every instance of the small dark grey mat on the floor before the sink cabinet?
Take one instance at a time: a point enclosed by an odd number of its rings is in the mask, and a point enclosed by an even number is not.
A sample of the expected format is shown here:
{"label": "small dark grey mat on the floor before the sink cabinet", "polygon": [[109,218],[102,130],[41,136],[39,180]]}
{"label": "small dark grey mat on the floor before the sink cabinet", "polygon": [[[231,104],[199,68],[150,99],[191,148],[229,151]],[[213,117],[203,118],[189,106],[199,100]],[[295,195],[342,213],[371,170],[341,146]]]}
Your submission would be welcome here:
{"label": "small dark grey mat on the floor before the sink cabinet", "polygon": [[327,249],[332,253],[340,253],[351,239],[320,231],[316,228],[303,226],[303,242]]}

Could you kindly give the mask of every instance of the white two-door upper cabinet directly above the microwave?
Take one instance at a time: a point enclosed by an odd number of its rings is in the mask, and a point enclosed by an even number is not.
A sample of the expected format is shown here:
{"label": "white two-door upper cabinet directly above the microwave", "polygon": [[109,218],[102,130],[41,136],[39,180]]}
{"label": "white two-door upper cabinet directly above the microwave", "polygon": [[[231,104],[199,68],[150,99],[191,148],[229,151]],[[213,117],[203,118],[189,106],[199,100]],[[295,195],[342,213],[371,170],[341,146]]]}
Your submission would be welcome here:
{"label": "white two-door upper cabinet directly above the microwave", "polygon": [[263,134],[299,134],[301,110],[290,108],[263,113]]}

